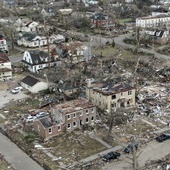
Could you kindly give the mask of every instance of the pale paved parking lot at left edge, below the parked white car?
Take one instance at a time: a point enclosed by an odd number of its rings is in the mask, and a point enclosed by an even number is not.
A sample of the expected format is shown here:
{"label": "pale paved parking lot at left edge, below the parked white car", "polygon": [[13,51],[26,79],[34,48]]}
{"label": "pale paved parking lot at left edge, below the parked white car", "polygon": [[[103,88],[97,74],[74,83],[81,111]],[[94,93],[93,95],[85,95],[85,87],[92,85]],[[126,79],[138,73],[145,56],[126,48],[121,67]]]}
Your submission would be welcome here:
{"label": "pale paved parking lot at left edge, below the parked white car", "polygon": [[3,90],[0,91],[0,108],[4,107],[5,104],[8,104],[11,101],[16,101],[20,99],[24,99],[28,97],[28,95],[24,94],[23,92],[12,94],[10,91]]}

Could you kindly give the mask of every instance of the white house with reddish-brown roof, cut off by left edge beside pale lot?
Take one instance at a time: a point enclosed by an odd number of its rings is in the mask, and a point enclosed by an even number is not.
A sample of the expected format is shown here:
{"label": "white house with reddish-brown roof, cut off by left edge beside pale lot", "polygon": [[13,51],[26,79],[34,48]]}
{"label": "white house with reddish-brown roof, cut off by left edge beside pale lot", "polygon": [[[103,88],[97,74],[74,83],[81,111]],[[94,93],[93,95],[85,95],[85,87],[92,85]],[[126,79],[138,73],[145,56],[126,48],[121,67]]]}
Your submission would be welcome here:
{"label": "white house with reddish-brown roof, cut off by left edge beside pale lot", "polygon": [[12,78],[11,62],[7,55],[0,52],[0,80]]}

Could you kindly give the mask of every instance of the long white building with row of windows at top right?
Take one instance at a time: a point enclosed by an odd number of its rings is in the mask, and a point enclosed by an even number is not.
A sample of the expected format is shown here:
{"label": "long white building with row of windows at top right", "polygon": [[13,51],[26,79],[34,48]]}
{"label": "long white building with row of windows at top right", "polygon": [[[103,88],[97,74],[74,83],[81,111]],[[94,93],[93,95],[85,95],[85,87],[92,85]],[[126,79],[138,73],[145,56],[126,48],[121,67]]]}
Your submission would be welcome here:
{"label": "long white building with row of windows at top right", "polygon": [[170,23],[170,16],[148,16],[136,18],[136,27],[149,28],[160,27]]}

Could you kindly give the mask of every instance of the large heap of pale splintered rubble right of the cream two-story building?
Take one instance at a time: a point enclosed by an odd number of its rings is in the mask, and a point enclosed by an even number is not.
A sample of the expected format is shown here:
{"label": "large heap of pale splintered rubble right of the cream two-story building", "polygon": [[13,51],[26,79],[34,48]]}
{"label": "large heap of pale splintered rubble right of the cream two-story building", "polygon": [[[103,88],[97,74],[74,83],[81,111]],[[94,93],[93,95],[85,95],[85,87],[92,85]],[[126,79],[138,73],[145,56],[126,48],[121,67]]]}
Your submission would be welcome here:
{"label": "large heap of pale splintered rubble right of the cream two-story building", "polygon": [[167,124],[167,116],[170,115],[170,89],[168,84],[157,83],[141,88],[138,94],[136,106],[140,115],[148,117],[156,117],[155,121],[165,121]]}

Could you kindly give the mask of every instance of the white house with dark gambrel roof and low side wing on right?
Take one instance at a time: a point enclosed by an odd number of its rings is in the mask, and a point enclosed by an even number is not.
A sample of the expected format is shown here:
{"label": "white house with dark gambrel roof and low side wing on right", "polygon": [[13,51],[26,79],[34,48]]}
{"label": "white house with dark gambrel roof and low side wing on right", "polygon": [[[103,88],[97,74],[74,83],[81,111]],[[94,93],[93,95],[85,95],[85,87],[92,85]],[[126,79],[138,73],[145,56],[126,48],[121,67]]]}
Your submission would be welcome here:
{"label": "white house with dark gambrel roof and low side wing on right", "polygon": [[40,50],[25,51],[21,61],[25,68],[33,73],[36,73],[49,66],[58,67],[61,65],[61,61],[53,56],[50,56],[49,62],[48,54]]}

